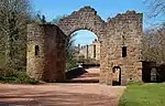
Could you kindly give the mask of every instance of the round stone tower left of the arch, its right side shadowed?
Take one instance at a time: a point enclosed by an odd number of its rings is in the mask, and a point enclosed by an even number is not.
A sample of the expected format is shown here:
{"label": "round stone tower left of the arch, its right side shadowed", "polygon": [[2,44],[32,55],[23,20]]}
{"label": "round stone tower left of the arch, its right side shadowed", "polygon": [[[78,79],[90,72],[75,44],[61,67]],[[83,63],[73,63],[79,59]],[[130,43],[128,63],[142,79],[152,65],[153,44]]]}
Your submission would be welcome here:
{"label": "round stone tower left of the arch, its right side shadowed", "polygon": [[28,75],[45,82],[64,81],[65,39],[65,34],[55,25],[29,24]]}

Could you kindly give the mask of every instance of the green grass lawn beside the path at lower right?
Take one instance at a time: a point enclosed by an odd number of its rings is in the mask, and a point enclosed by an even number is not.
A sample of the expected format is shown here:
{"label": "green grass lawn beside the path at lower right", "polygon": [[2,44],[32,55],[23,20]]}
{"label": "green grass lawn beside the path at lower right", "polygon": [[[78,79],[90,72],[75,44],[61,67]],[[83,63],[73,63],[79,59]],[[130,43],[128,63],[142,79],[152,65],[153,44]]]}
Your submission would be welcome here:
{"label": "green grass lawn beside the path at lower right", "polygon": [[132,84],[119,106],[165,106],[165,84]]}

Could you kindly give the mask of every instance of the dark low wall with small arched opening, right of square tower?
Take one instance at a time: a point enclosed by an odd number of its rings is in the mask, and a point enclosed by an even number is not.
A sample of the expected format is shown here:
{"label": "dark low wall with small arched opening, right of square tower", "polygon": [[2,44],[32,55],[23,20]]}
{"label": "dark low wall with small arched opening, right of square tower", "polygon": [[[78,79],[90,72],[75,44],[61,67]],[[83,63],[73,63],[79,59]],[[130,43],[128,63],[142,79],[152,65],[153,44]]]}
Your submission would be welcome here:
{"label": "dark low wall with small arched opening, right of square tower", "polygon": [[156,65],[155,62],[143,62],[142,80],[144,83],[165,82],[165,64]]}

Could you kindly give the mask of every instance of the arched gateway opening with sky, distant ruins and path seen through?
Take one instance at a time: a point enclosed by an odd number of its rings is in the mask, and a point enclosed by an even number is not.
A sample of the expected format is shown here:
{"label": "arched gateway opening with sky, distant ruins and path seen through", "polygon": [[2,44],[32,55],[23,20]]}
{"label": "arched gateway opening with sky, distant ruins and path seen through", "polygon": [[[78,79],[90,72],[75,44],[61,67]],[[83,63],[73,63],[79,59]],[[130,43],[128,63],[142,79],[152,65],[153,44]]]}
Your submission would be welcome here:
{"label": "arched gateway opening with sky, distant ruins and path seen through", "polygon": [[100,42],[98,36],[90,30],[76,30],[69,36],[70,41],[74,41],[72,45],[74,50],[72,62],[66,62],[66,67],[69,67],[66,71],[67,82],[99,83]]}

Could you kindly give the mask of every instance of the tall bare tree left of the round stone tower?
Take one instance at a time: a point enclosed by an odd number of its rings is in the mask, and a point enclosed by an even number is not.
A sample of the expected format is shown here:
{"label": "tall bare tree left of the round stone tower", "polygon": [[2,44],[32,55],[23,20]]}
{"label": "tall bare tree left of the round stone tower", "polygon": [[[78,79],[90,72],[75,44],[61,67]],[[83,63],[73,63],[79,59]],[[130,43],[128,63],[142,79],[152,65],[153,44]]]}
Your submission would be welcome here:
{"label": "tall bare tree left of the round stone tower", "polygon": [[29,0],[0,0],[0,33],[6,45],[6,65],[25,64],[26,24],[31,21]]}

